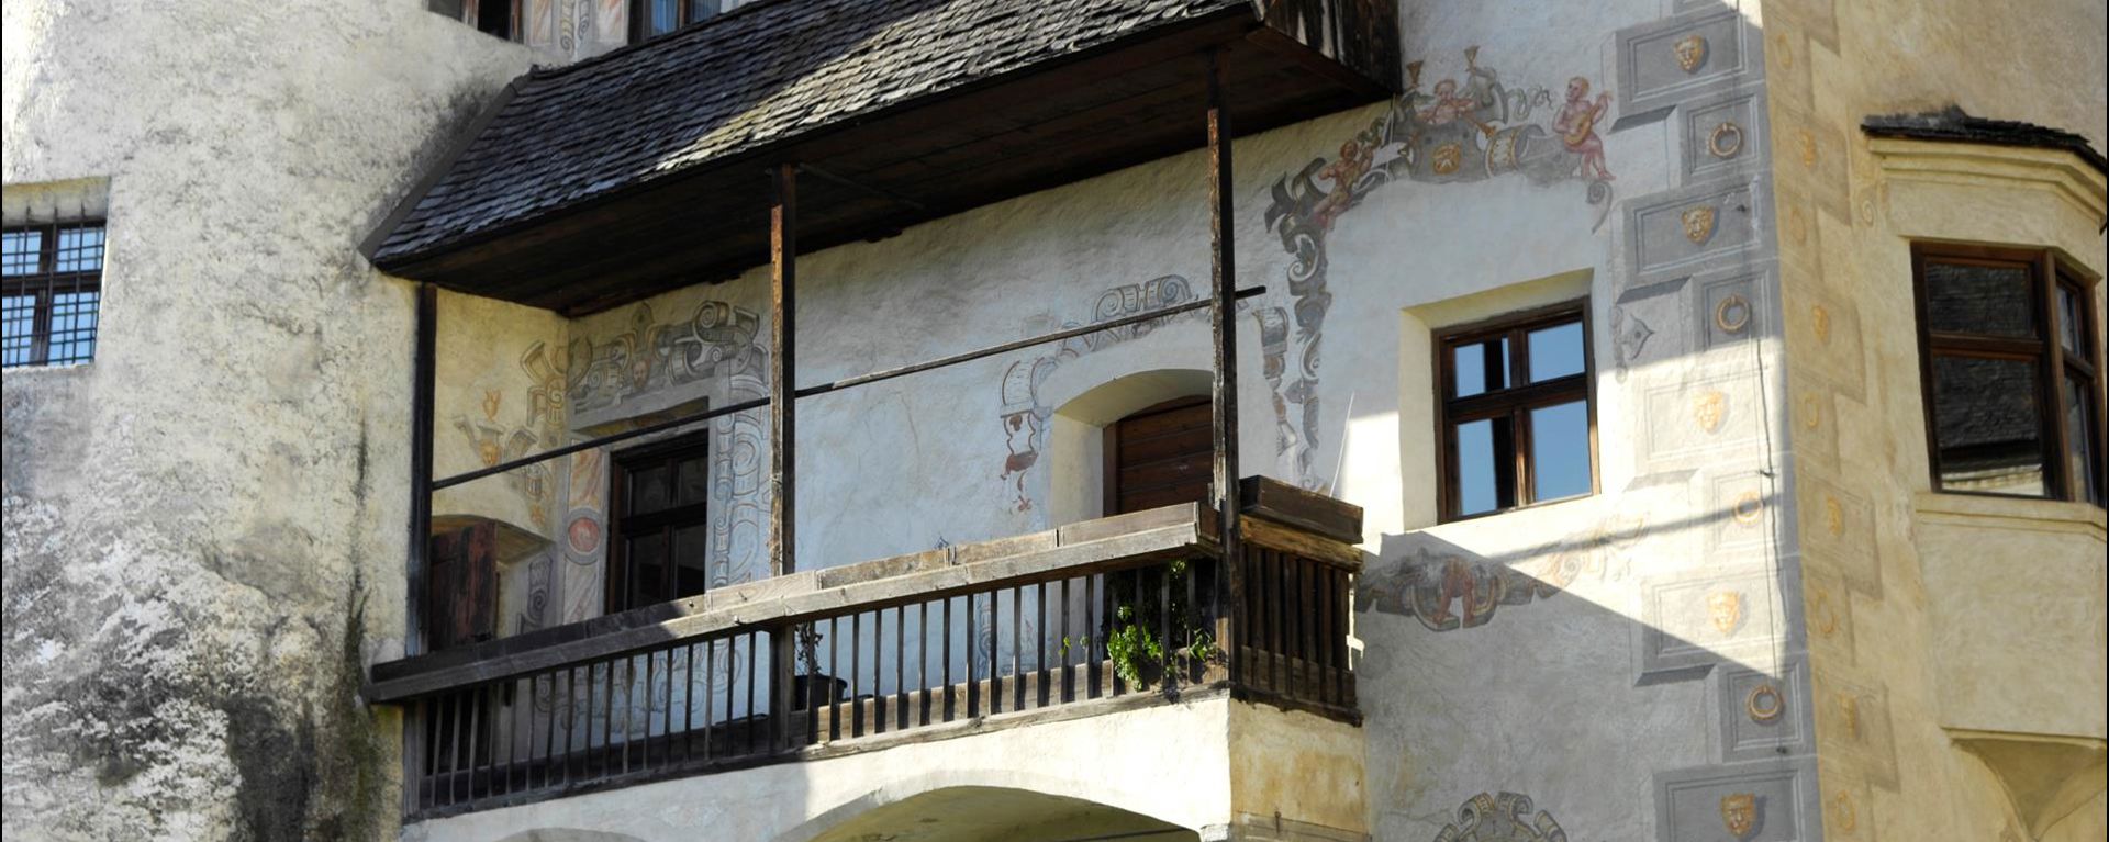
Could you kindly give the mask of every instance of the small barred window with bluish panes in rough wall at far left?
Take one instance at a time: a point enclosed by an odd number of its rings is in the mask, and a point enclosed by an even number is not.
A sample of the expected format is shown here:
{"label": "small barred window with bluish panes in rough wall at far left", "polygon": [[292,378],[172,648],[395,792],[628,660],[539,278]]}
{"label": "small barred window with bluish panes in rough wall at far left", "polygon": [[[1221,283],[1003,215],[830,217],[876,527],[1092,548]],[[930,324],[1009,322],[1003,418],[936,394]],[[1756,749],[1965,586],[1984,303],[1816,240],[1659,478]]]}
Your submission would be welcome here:
{"label": "small barred window with bluish panes in rough wall at far left", "polygon": [[0,230],[0,367],[95,359],[103,222]]}

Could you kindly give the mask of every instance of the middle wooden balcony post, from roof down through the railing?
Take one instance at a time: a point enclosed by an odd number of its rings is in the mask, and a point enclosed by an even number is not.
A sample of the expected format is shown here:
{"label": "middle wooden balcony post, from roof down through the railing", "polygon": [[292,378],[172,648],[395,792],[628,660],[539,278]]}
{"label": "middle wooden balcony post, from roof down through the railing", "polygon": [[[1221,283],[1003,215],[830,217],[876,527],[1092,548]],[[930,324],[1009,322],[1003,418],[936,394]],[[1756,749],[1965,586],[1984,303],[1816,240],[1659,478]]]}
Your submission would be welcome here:
{"label": "middle wooden balcony post, from roof down through the railing", "polygon": [[[776,165],[770,207],[770,576],[797,570],[797,165]],[[770,629],[770,745],[791,749],[795,631]],[[753,711],[749,711],[753,715]]]}

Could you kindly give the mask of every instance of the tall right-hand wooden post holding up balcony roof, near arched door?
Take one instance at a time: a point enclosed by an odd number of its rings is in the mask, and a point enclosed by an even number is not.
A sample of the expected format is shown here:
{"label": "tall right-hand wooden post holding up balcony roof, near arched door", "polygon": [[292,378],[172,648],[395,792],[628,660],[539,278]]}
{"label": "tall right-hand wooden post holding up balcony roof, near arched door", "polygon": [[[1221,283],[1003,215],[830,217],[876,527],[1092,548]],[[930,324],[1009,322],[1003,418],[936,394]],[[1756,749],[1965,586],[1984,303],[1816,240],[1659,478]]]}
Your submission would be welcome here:
{"label": "tall right-hand wooden post holding up balcony roof, near arched door", "polygon": [[1223,108],[1223,55],[1208,51],[1208,247],[1211,247],[1211,308],[1208,325],[1215,331],[1215,380],[1211,401],[1215,403],[1215,504],[1221,532],[1223,561],[1219,580],[1232,606],[1232,620],[1221,637],[1230,652],[1230,680],[1238,682],[1240,637],[1244,635],[1238,616],[1244,606],[1242,549],[1238,547],[1238,247],[1232,238],[1236,217],[1232,217],[1232,162],[1230,162],[1230,110]]}

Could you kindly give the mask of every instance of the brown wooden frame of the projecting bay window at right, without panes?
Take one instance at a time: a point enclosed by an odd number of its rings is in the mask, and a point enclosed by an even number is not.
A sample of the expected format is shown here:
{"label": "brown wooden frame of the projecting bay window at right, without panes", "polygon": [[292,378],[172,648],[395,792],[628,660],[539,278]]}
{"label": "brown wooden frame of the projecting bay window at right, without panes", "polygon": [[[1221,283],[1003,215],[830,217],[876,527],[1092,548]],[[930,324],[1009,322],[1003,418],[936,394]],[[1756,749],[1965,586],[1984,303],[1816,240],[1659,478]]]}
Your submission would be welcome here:
{"label": "brown wooden frame of the projecting bay window at right, without panes", "polygon": [[[2029,302],[2035,310],[2037,338],[2035,340],[2014,340],[2014,338],[1991,338],[1976,333],[1936,333],[1928,321],[1928,287],[1926,268],[1930,262],[1942,264],[1966,264],[1966,266],[2001,266],[2001,268],[2027,268],[2029,270]],[[2067,502],[2092,502],[2103,506],[2101,498],[2088,500],[2086,490],[2079,485],[2084,477],[2071,473],[2071,430],[2065,418],[2071,414],[2071,405],[2065,401],[2065,380],[2084,378],[2088,380],[2088,395],[2094,399],[2094,428],[2088,430],[2092,437],[2094,471],[2092,487],[2105,490],[2103,477],[2103,443],[2109,441],[2105,433],[2105,412],[2103,412],[2103,376],[2098,361],[2103,359],[2101,329],[2094,325],[2094,285],[2101,279],[2086,279],[2075,268],[2058,262],[2058,255],[2050,249],[2029,249],[2029,247],[2004,247],[2004,245],[1966,245],[1966,243],[1913,243],[1911,245],[1911,293],[1913,310],[1917,314],[1917,336],[1919,336],[1919,405],[1926,414],[1926,468],[1928,481],[1934,492],[1940,494],[1963,494],[1963,496],[1989,496],[2008,500],[2067,500]],[[2071,289],[2079,295],[2084,304],[2079,308],[2079,355],[2073,355],[2063,344],[2063,308],[2058,308],[2058,289]],[[1947,487],[1940,479],[1940,428],[1934,407],[1934,359],[1936,357],[1963,357],[1963,359],[2001,359],[2001,361],[2027,361],[2035,363],[2035,418],[2037,437],[2044,445],[2044,490],[2046,496],[2025,496],[2025,494],[1999,494],[1999,492],[1976,492],[1963,487]],[[2075,378],[2075,380],[2077,380]],[[2109,492],[2109,490],[2105,490]],[[2103,494],[2109,496],[2109,494]]]}

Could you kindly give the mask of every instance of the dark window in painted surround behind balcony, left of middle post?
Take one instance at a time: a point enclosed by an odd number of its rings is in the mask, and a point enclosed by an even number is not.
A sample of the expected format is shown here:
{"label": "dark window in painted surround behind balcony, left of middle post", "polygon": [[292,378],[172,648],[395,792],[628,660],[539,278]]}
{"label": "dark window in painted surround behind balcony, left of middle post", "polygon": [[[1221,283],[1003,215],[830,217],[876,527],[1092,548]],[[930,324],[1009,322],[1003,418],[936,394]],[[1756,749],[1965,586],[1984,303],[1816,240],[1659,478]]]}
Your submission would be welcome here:
{"label": "dark window in painted surround behind balcony, left of middle post", "polygon": [[607,612],[694,597],[709,587],[711,460],[704,439],[616,454]]}

